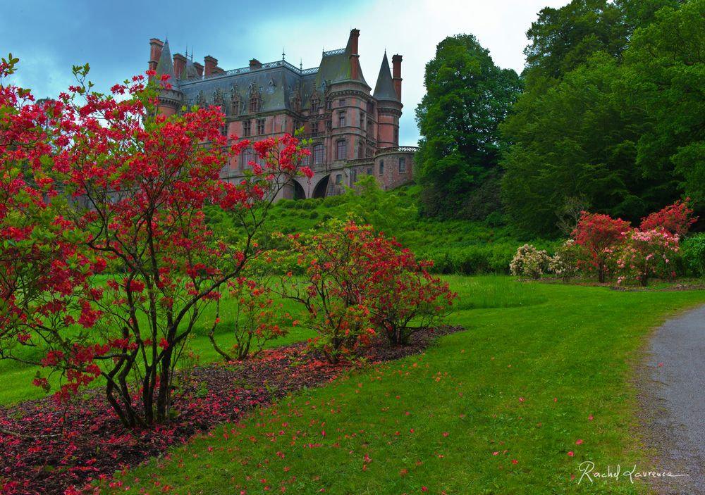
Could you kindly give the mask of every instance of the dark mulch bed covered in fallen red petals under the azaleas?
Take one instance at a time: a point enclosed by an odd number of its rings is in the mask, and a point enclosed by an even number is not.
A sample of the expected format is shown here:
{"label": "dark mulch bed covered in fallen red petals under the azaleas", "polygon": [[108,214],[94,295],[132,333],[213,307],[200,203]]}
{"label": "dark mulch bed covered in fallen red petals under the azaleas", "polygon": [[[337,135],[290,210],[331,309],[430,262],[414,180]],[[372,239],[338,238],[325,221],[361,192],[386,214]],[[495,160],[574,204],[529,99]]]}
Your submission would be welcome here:
{"label": "dark mulch bed covered in fallen red petals under the azaleas", "polygon": [[[424,330],[407,346],[373,345],[359,356],[369,363],[403,358],[424,351],[435,337],[460,330],[465,329]],[[240,420],[290,392],[331,382],[354,366],[328,365],[305,344],[294,344],[269,349],[252,361],[197,367],[175,380],[177,419],[149,430],[125,429],[99,390],[61,409],[51,398],[0,407],[0,494],[80,494],[94,480],[164,454],[221,422]]]}

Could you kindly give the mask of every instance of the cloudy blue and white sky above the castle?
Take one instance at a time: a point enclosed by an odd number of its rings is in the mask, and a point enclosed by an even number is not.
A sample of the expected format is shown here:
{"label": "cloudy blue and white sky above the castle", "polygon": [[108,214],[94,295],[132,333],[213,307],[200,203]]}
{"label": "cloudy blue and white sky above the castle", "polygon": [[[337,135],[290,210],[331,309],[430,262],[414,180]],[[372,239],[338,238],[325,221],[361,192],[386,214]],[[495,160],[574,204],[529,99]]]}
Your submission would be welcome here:
{"label": "cloudy blue and white sky above the castle", "polygon": [[445,37],[472,34],[494,62],[519,72],[525,32],[546,6],[568,0],[387,1],[119,1],[19,0],[0,8],[0,55],[20,58],[20,86],[37,97],[56,96],[74,82],[71,67],[89,63],[90,79],[107,91],[147,70],[149,39],[168,37],[172,53],[194,51],[225,69],[250,58],[281,59],[304,68],[319,65],[322,50],[343,48],[360,30],[360,63],[374,88],[384,50],[401,54],[400,144],[419,137],[414,110],[424,95],[424,65]]}

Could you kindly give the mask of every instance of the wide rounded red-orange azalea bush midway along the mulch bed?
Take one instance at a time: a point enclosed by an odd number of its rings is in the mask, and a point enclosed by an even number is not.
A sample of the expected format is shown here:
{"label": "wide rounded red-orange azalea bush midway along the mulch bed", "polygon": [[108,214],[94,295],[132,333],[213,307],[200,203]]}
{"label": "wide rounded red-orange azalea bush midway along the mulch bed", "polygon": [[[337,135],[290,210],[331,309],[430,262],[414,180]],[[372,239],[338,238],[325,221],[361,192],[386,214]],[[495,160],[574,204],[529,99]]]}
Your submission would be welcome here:
{"label": "wide rounded red-orange azalea bush midway along the mulch bed", "polygon": [[413,332],[438,322],[455,297],[429,275],[427,262],[370,225],[330,220],[316,234],[288,240],[305,275],[289,271],[281,294],[303,306],[297,323],[319,334],[312,344],[329,363],[379,332],[392,344],[407,343]]}

